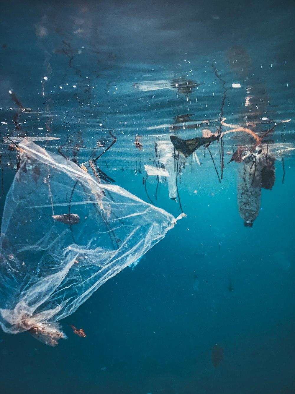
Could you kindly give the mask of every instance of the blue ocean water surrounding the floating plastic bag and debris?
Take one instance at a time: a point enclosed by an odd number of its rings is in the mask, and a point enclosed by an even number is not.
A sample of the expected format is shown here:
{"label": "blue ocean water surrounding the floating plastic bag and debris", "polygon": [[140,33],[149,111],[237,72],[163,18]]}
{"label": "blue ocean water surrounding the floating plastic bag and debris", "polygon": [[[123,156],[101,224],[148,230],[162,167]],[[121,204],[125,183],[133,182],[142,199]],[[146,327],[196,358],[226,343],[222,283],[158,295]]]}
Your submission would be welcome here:
{"label": "blue ocean water surrounding the floating plastic bag and debris", "polygon": [[[295,392],[293,14],[275,1],[2,5],[0,212],[16,173],[11,140],[42,138],[47,152],[81,164],[111,132],[100,169],[187,216],[61,321],[68,339],[58,346],[0,331],[1,393]],[[210,144],[216,170],[204,145],[185,158],[170,141],[238,126],[267,133],[260,142],[275,158],[252,228],[237,201],[243,162],[228,164],[255,145],[249,132]],[[165,152],[170,178],[180,166],[176,199],[168,177],[144,168],[160,167]]]}

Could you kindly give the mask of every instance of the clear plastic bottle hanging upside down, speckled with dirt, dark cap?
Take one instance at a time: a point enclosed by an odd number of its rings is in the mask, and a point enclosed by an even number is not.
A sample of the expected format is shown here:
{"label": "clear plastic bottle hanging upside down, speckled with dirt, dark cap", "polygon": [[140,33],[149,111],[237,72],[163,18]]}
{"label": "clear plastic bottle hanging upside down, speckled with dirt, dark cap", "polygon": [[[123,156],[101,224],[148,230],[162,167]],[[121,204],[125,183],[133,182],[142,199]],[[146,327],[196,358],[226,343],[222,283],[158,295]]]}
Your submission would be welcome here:
{"label": "clear plastic bottle hanging upside down, speckled with dirt, dark cap", "polygon": [[245,227],[252,227],[259,214],[261,201],[260,154],[245,151],[244,160],[238,172],[237,199],[240,216]]}

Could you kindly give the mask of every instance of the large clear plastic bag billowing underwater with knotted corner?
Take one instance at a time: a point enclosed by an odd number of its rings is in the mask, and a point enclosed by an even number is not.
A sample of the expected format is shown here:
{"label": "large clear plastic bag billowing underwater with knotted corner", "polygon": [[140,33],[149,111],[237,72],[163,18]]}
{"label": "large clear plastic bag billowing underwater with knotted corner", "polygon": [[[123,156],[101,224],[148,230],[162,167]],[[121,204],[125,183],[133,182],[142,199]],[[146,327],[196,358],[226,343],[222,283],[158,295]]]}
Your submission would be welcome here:
{"label": "large clear plastic bag billowing underwater with knotted corner", "polygon": [[[33,142],[7,194],[0,243],[0,325],[55,346],[57,321],[136,262],[171,229],[172,215]],[[92,163],[93,164],[93,163]],[[95,171],[95,169],[94,169]]]}

